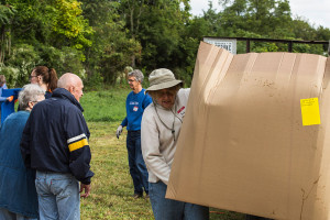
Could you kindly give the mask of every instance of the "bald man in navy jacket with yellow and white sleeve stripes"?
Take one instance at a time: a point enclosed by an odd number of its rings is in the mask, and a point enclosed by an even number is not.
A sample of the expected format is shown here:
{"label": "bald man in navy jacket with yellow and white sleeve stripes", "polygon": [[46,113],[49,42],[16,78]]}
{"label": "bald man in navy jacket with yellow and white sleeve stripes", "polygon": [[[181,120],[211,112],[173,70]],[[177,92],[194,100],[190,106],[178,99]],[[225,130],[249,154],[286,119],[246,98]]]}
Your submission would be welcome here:
{"label": "bald man in navy jacket with yellow and white sleeve stripes", "polygon": [[[26,122],[21,153],[36,169],[35,187],[41,219],[80,219],[80,197],[90,194],[89,130],[79,99],[82,81],[64,74],[53,96],[36,105]],[[80,188],[79,188],[80,182]]]}

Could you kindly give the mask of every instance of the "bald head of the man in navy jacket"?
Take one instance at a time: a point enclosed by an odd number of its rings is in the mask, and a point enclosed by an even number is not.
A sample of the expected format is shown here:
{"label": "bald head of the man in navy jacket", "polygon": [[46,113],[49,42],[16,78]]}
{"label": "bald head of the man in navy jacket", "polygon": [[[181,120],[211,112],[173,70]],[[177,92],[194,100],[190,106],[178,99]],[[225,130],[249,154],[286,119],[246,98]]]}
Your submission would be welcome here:
{"label": "bald head of the man in navy jacket", "polygon": [[68,90],[77,101],[80,100],[80,97],[84,95],[82,92],[82,80],[75,74],[66,73],[64,74],[57,81],[58,88],[64,88]]}

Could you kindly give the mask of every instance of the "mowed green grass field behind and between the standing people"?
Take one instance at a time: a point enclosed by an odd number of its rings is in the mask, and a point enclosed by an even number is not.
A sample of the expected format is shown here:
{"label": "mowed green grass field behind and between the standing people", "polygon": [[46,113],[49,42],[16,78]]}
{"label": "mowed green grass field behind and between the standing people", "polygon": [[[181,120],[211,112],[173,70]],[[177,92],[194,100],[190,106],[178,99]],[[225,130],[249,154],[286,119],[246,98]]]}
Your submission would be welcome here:
{"label": "mowed green grass field behind and between the standing people", "polygon": [[[154,219],[145,199],[134,199],[127,158],[127,132],[118,140],[117,127],[125,116],[127,88],[86,92],[81,99],[84,116],[91,133],[91,195],[81,199],[81,219]],[[212,220],[243,220],[244,215],[210,209]]]}

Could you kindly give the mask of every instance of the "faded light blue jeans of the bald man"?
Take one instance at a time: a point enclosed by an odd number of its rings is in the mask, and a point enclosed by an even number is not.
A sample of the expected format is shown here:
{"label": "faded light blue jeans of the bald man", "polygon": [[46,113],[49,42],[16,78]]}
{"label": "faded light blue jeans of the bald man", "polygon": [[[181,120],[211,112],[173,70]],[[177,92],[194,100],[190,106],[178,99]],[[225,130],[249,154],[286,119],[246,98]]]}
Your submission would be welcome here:
{"label": "faded light blue jeans of the bald man", "polygon": [[72,174],[36,172],[40,219],[79,220],[79,182]]}

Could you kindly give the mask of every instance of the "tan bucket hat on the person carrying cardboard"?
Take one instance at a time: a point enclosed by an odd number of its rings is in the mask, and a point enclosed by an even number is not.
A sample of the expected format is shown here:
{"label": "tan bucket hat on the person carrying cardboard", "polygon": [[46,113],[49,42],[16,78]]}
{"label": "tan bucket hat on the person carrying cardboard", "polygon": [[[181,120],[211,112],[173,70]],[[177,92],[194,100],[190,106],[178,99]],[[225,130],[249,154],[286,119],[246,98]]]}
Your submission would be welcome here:
{"label": "tan bucket hat on the person carrying cardboard", "polygon": [[175,79],[174,74],[166,68],[160,68],[153,70],[148,76],[150,87],[146,91],[155,91],[174,87],[178,84],[183,84],[182,80]]}

